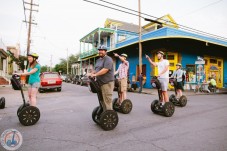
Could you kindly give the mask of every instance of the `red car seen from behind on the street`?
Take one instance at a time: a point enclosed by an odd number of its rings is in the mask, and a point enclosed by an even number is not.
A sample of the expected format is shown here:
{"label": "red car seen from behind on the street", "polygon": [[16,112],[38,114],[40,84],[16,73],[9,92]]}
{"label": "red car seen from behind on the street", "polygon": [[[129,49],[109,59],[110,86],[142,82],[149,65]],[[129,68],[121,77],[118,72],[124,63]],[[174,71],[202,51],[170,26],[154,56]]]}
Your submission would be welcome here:
{"label": "red car seen from behind on the street", "polygon": [[56,89],[60,92],[61,86],[62,79],[57,72],[43,72],[40,74],[40,93],[48,89]]}

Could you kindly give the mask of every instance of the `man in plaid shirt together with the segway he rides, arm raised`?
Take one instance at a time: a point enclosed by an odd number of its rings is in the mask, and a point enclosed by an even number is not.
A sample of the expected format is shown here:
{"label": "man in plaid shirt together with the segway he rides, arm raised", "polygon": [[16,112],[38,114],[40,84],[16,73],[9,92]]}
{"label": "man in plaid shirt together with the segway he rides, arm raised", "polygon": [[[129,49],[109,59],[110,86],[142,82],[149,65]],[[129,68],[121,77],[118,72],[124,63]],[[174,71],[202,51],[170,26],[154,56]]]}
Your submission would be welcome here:
{"label": "man in plaid shirt together with the segway he rides, arm raised", "polygon": [[124,114],[128,114],[132,110],[132,102],[130,99],[127,99],[127,85],[128,85],[128,70],[129,70],[129,62],[126,60],[128,57],[127,54],[118,55],[114,53],[115,57],[118,57],[121,60],[121,64],[119,65],[115,75],[119,75],[118,79],[115,80],[115,85],[117,87],[118,98],[113,99],[113,109],[115,111],[122,112]]}

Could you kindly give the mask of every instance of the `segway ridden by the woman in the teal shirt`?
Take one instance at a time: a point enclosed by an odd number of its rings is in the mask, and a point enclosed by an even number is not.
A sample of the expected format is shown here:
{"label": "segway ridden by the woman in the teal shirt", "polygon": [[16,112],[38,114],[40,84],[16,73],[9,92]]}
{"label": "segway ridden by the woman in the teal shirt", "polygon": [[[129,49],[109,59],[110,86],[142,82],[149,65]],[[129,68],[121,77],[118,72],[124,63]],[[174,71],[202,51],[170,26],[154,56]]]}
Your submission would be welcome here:
{"label": "segway ridden by the woman in the teal shirt", "polygon": [[16,89],[21,90],[23,104],[17,110],[17,116],[20,123],[24,126],[36,124],[40,118],[40,111],[37,107],[30,106],[29,103],[25,102],[24,93],[20,83],[20,76],[16,74],[13,75],[11,78],[11,83],[16,86]]}

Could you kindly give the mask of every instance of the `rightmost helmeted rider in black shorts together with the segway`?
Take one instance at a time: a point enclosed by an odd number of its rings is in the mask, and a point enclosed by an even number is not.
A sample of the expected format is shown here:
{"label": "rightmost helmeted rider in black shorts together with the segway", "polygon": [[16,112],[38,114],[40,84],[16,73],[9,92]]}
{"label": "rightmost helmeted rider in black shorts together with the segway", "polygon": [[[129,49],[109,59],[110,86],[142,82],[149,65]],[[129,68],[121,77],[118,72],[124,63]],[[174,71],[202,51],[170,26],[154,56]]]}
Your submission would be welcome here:
{"label": "rightmost helmeted rider in black shorts together with the segway", "polygon": [[184,71],[181,70],[181,64],[177,63],[176,67],[177,70],[174,71],[174,73],[170,77],[170,84],[174,86],[175,95],[172,94],[169,97],[169,101],[172,102],[174,105],[178,105],[181,107],[186,106],[187,104],[187,98],[185,95],[182,95],[183,88],[183,76]]}

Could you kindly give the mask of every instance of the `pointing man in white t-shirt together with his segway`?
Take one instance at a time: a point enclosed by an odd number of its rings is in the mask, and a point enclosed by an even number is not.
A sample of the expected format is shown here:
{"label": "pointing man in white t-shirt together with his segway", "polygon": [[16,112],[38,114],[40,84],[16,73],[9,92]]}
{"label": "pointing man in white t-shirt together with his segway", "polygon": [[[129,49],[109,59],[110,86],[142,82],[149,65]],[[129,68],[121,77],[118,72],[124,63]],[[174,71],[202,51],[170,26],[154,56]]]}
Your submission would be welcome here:
{"label": "pointing man in white t-shirt together with his segway", "polygon": [[148,55],[146,58],[154,67],[158,67],[158,76],[153,77],[151,84],[157,88],[159,100],[154,100],[151,103],[151,110],[153,113],[164,114],[167,117],[173,115],[175,107],[173,103],[169,102],[167,88],[169,83],[169,61],[163,58],[164,52],[158,51],[157,57],[159,62],[153,62]]}

